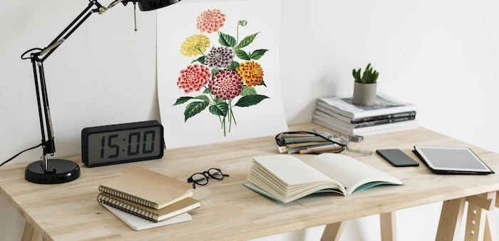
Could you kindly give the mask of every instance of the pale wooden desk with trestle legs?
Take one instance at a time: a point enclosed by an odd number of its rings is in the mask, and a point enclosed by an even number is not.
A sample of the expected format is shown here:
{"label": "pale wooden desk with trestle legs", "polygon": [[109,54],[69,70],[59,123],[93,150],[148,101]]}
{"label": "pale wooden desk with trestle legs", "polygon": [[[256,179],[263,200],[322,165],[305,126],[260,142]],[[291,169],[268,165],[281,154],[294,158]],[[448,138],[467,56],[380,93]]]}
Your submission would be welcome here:
{"label": "pale wooden desk with trestle legs", "polygon": [[[307,124],[291,129],[317,127]],[[499,171],[497,153],[424,128],[371,136],[363,143],[351,146],[370,150],[401,148],[417,160],[410,153],[413,145],[468,146],[490,168]],[[29,183],[24,180],[24,168],[28,163],[7,165],[0,168],[0,193],[26,218],[24,239],[35,234],[35,237],[41,235],[43,240],[247,240],[325,224],[329,225],[324,231],[324,239],[334,239],[341,232],[342,221],[381,214],[384,240],[393,240],[393,211],[449,200],[444,202],[437,236],[438,240],[452,240],[457,235],[456,227],[461,221],[466,198],[478,210],[474,215],[478,217],[475,225],[470,221],[470,228],[479,226],[472,239],[480,232],[488,234],[489,219],[480,207],[496,205],[499,174],[435,175],[423,164],[418,168],[393,168],[376,154],[362,156],[344,152],[390,173],[406,185],[371,188],[346,198],[330,193],[318,194],[282,205],[242,186],[252,157],[269,153],[277,153],[273,136],[167,150],[161,160],[101,168],[86,168],[76,156],[70,159],[81,164],[81,177],[61,185]],[[299,158],[306,159],[307,155]],[[194,190],[194,198],[201,200],[201,207],[191,212],[192,221],[136,232],[96,201],[98,185],[132,165],[180,180],[187,180],[192,173],[208,168],[222,168],[230,178],[210,180],[208,185]]]}

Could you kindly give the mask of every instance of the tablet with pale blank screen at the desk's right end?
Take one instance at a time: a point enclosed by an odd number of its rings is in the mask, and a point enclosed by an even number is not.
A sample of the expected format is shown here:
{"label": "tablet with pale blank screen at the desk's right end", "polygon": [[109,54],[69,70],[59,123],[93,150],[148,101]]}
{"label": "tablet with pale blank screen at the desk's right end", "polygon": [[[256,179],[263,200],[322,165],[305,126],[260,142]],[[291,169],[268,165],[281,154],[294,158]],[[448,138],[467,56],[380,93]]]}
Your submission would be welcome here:
{"label": "tablet with pale blank screen at the desk's right end", "polygon": [[470,148],[415,145],[414,149],[432,170],[494,173]]}

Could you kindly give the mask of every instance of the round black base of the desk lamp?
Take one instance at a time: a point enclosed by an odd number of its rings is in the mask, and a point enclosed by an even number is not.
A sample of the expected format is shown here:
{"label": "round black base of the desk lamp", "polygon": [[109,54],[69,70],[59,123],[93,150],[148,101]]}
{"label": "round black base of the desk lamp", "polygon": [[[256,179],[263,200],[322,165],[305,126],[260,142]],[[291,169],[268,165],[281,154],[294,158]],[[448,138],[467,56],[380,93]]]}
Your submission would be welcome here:
{"label": "round black base of the desk lamp", "polygon": [[80,177],[80,166],[71,160],[49,159],[48,170],[44,172],[41,160],[29,164],[24,172],[24,178],[31,183],[58,184],[68,183]]}

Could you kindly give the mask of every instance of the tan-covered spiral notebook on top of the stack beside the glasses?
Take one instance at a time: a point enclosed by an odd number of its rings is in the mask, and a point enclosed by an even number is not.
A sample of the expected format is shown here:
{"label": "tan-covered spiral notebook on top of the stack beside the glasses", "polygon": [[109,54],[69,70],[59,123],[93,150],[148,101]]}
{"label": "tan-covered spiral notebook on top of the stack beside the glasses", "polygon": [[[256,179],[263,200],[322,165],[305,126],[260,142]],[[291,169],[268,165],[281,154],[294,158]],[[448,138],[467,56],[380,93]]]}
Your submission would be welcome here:
{"label": "tan-covered spiral notebook on top of the stack beside the glasses", "polygon": [[133,166],[108,183],[100,185],[99,190],[154,209],[161,209],[192,196],[187,182],[138,166]]}

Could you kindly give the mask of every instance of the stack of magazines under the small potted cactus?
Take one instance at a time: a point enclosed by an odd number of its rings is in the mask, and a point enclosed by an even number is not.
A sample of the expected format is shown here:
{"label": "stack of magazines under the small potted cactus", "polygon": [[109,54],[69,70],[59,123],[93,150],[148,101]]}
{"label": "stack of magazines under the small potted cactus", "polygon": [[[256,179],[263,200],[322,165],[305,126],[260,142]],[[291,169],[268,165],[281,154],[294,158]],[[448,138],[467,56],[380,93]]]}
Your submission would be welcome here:
{"label": "stack of magazines under the small potted cactus", "polygon": [[312,121],[345,135],[376,135],[418,127],[416,106],[385,94],[376,96],[374,106],[354,105],[350,98],[317,100]]}

